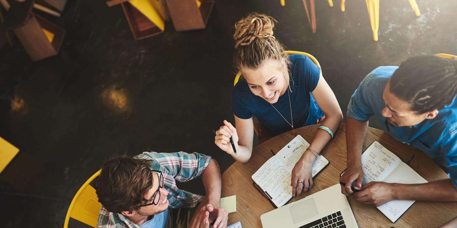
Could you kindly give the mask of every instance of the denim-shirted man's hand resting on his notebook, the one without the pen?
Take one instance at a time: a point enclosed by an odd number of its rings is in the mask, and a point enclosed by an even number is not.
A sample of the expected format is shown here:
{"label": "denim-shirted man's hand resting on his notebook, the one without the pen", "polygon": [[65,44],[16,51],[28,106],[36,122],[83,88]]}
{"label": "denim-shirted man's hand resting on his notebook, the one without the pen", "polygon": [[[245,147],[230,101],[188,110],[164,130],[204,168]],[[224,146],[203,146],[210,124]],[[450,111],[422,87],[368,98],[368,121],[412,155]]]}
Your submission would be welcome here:
{"label": "denim-shirted man's hand resting on his notebook, the one without the pen", "polygon": [[354,193],[354,196],[361,204],[379,207],[384,203],[395,199],[393,183],[372,181],[361,188],[354,188],[360,190],[360,192]]}

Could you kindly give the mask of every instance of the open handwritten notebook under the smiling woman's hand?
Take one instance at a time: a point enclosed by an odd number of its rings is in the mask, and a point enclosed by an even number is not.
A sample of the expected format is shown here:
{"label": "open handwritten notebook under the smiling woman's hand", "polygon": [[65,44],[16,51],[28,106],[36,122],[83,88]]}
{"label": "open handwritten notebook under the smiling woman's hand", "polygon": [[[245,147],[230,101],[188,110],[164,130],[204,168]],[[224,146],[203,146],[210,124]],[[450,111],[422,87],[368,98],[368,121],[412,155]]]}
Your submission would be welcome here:
{"label": "open handwritten notebook under the smiling woman's hand", "polygon": [[[292,169],[308,146],[309,143],[297,135],[252,175],[252,180],[276,207],[283,206],[292,198]],[[313,163],[313,177],[328,164],[329,161],[319,154]]]}

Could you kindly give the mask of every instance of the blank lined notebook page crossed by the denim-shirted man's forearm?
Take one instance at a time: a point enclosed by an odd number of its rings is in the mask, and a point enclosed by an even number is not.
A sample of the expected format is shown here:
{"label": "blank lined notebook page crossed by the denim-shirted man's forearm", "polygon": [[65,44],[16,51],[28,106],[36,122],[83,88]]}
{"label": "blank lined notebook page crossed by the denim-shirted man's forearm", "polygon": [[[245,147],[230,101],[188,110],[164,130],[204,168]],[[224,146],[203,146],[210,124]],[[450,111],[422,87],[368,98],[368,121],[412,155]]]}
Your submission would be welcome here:
{"label": "blank lined notebook page crossed by the denim-shirted man's forearm", "polygon": [[[394,169],[390,175],[386,177],[386,179],[384,179],[384,182],[418,184],[426,183],[427,181],[411,167],[406,165],[406,163],[401,162],[399,166],[397,166],[397,168]],[[395,223],[395,221],[397,221],[397,219],[399,219],[413,203],[414,200],[393,200],[377,207],[377,209],[383,212],[383,214],[386,215],[392,223]]]}

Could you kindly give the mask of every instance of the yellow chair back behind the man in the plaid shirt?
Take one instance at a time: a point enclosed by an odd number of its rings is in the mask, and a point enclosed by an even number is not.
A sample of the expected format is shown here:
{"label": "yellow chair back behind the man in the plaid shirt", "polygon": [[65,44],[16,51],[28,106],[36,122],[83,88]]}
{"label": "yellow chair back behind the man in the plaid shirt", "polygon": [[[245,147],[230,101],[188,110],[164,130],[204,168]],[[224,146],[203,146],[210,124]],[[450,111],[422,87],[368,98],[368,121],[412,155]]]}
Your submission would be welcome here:
{"label": "yellow chair back behind the man in the plaid shirt", "polygon": [[96,227],[101,204],[98,202],[95,188],[89,184],[94,178],[100,175],[100,171],[97,171],[85,181],[83,186],[80,187],[80,190],[74,195],[68,208],[67,216],[65,216],[64,228],[68,228],[70,217],[91,227]]}

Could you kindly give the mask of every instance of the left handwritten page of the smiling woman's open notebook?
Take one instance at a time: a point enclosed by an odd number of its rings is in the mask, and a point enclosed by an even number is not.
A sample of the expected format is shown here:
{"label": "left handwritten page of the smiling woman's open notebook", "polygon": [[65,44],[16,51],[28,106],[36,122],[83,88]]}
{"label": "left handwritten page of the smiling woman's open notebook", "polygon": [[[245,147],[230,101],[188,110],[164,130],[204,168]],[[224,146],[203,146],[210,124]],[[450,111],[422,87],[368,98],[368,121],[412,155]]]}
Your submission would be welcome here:
{"label": "left handwritten page of the smiling woman's open notebook", "polygon": [[291,171],[276,156],[266,161],[252,175],[252,180],[271,196],[276,207],[281,207],[292,198]]}

